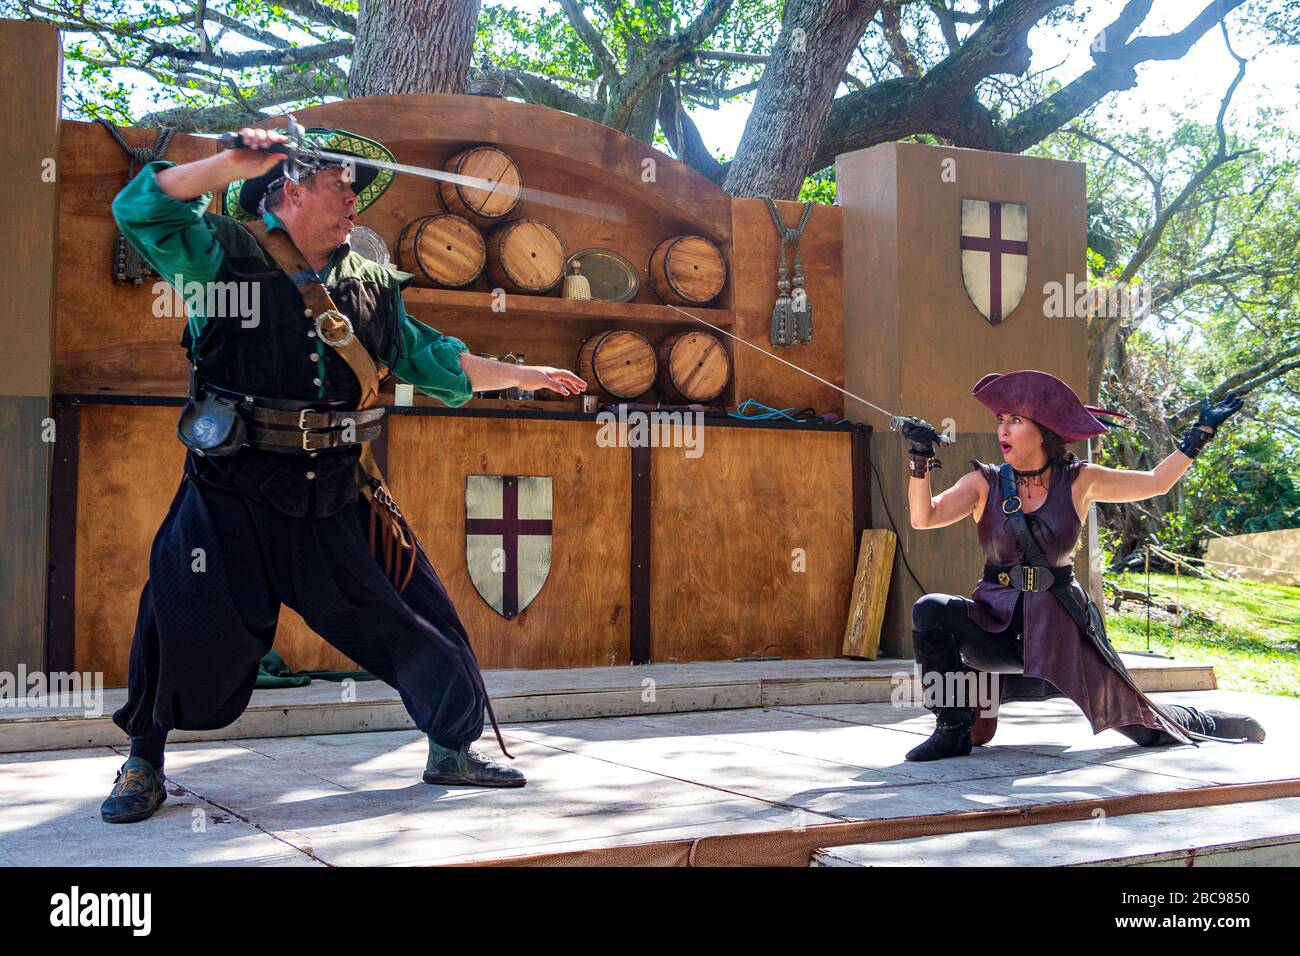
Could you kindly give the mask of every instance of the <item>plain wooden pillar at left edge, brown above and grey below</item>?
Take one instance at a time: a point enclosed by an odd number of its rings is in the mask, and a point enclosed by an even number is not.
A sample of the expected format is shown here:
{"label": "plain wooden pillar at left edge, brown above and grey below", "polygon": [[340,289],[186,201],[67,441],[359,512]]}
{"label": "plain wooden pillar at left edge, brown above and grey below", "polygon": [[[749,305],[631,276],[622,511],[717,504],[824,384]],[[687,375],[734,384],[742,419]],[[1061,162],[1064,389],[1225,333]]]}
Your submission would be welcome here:
{"label": "plain wooden pillar at left edge, brown above and grey below", "polygon": [[[55,238],[58,219],[58,30],[0,20],[0,670],[46,670],[52,444]],[[75,440],[75,438],[74,438]]]}

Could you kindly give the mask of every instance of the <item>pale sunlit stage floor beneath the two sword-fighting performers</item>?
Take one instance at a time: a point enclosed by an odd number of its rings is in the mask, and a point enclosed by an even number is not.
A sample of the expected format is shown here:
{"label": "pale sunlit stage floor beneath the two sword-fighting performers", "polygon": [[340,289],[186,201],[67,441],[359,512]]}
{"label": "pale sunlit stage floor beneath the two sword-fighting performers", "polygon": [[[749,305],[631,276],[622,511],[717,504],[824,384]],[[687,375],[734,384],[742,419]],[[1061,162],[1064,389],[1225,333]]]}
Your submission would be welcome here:
{"label": "pale sunlit stage floor beneath the two sword-fighting performers", "polygon": [[[168,801],[122,826],[98,814],[121,745],[6,753],[0,865],[439,865],[1300,778],[1300,700],[1160,697],[1252,713],[1269,740],[1143,749],[1113,731],[1093,736],[1069,701],[1045,701],[1005,708],[994,743],[971,757],[906,763],[932,722],[889,702],[549,718],[504,727],[529,777],[515,791],[424,784],[425,740],[413,730],[202,740],[169,747]],[[481,743],[495,752],[490,732]],[[837,847],[814,862],[1186,865],[1188,852],[1204,861],[1213,848],[1234,862],[1296,862],[1300,799],[1169,813],[1183,818],[1115,818],[1092,826],[1091,840],[1076,829],[1024,842],[1069,826],[1052,823]],[[1067,852],[1053,855],[1062,842]]]}

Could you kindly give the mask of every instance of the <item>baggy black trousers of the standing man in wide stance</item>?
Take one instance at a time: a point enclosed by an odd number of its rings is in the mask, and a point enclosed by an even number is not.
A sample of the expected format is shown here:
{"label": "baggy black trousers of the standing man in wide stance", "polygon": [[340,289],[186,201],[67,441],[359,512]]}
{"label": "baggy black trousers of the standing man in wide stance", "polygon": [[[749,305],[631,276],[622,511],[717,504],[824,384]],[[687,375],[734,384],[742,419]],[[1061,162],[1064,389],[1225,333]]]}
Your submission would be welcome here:
{"label": "baggy black trousers of the standing man in wide stance", "polygon": [[396,688],[415,724],[458,747],[482,734],[486,696],[465,628],[419,549],[398,592],[368,546],[363,498],[329,518],[181,480],[153,538],[126,704],[131,736],[231,723],[252,696],[280,606]]}

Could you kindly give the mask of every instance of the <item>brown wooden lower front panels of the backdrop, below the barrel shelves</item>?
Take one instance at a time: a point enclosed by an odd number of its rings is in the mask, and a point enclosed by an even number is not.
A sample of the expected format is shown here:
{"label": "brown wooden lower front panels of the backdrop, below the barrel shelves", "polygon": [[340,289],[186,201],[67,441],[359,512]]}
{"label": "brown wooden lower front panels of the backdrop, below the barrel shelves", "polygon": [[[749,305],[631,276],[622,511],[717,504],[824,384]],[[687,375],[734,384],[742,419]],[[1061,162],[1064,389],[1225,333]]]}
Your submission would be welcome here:
{"label": "brown wooden lower front panels of the backdrop, below the barrel shelves", "polygon": [[[150,545],[181,480],[173,405],[64,406],[78,433],[75,555],[68,646],[58,657],[126,682]],[[853,584],[854,502],[864,472],[850,431],[706,425],[703,454],[602,447],[588,420],[394,415],[387,475],[465,623],[485,667],[628,663],[633,509],[650,518],[646,659],[835,657]],[[864,437],[862,438],[864,441]],[[551,571],[512,620],[478,596],[465,566],[467,475],[554,479]],[[350,670],[302,618],[283,609],[276,649],[298,670]]]}

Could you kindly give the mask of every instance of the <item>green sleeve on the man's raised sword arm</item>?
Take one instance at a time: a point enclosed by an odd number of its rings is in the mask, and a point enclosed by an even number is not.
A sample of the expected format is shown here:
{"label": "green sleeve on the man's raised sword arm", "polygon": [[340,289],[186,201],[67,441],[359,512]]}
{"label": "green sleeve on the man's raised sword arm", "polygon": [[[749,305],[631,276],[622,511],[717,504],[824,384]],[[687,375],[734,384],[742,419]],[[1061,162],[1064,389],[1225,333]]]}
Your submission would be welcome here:
{"label": "green sleeve on the man's raised sword arm", "polygon": [[122,235],[173,286],[177,274],[182,282],[212,282],[225,255],[203,215],[212,194],[173,199],[164,193],[157,174],[174,165],[165,160],[146,165],[113,199],[113,219]]}

